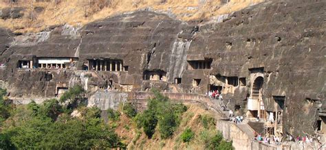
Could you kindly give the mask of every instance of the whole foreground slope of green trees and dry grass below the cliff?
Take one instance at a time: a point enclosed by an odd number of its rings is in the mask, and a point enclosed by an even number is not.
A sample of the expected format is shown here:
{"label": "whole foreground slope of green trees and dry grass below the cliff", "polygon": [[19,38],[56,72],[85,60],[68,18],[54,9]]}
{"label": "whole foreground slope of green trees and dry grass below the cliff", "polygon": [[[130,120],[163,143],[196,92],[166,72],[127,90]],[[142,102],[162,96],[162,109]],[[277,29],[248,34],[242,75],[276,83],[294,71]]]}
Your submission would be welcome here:
{"label": "whole foreground slope of green trees and dry grass below the cliff", "polygon": [[[79,103],[83,88],[75,86],[42,104],[14,105],[0,90],[0,147],[3,149],[233,149],[215,129],[215,118],[199,106],[171,103],[160,92],[148,109],[130,103],[120,110],[101,110]],[[69,102],[68,102],[69,101]],[[65,103],[61,103],[65,102]],[[78,103],[78,105],[72,105]],[[77,113],[74,113],[77,112]],[[156,141],[156,142],[154,142]],[[157,145],[157,141],[159,144]]]}

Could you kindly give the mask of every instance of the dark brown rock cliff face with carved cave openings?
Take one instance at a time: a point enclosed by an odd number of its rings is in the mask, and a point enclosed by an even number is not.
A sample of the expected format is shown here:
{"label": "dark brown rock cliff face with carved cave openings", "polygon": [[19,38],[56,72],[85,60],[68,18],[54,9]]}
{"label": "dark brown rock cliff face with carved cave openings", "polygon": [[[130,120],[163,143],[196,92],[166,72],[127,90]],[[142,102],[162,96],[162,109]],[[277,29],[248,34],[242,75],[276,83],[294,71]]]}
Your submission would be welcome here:
{"label": "dark brown rock cliff face with carved cave openings", "polygon": [[[282,112],[283,133],[303,134],[326,110],[325,8],[325,1],[270,1],[209,23],[140,11],[39,34],[0,29],[0,63],[6,64],[0,84],[13,99],[54,97],[72,83],[91,93],[107,87],[198,94],[219,89],[232,109],[261,99],[261,117]],[[37,68],[37,58],[78,62],[72,70],[56,71]],[[105,59],[122,61],[123,69],[81,71],[91,70],[87,62]],[[33,61],[35,68],[17,68],[22,60]]]}

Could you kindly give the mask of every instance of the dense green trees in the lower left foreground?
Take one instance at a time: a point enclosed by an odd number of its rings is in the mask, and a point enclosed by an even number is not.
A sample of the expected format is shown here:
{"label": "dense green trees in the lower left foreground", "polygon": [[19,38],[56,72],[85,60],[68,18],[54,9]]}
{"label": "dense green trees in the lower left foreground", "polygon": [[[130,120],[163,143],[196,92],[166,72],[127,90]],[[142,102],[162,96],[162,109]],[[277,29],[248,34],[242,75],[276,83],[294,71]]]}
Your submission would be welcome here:
{"label": "dense green trees in the lower left foreground", "polygon": [[[76,90],[76,89],[75,89]],[[76,94],[76,93],[75,93]],[[2,97],[1,97],[2,99]],[[69,99],[72,99],[70,97]],[[80,108],[72,117],[56,99],[17,105],[1,125],[2,149],[107,149],[124,147],[98,108]]]}

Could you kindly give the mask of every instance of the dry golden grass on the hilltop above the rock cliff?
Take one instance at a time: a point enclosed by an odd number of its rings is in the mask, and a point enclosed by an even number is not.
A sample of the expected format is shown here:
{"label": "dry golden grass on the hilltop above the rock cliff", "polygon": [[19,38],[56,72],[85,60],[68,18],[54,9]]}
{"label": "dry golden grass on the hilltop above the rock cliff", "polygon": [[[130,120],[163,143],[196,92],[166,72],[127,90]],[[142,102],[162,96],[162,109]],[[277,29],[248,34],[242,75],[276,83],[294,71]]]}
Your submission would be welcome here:
{"label": "dry golden grass on the hilltop above the rock cliff", "polygon": [[[22,0],[21,0],[22,1]],[[197,18],[210,18],[219,14],[228,14],[241,10],[263,0],[230,0],[227,4],[221,4],[220,0],[207,0],[206,3],[199,3],[199,0],[111,0],[103,6],[103,0],[61,0],[57,5],[54,2],[31,2],[23,0],[12,7],[24,7],[25,16],[20,19],[0,20],[0,26],[12,29],[16,32],[39,32],[51,25],[85,25],[122,12],[131,12],[142,8],[153,8],[153,10],[170,11],[177,18],[190,21]],[[100,5],[100,6],[99,6]],[[0,8],[11,7],[10,3],[0,2]],[[43,12],[36,14],[33,7],[43,7]],[[32,19],[30,13],[32,12]]]}

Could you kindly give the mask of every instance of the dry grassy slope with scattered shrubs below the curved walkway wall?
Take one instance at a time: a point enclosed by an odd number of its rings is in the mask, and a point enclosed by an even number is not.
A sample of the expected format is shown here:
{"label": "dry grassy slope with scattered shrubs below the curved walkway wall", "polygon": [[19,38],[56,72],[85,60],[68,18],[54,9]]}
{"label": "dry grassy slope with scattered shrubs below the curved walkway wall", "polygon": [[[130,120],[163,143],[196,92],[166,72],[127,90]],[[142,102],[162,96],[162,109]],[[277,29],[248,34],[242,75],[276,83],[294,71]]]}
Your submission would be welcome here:
{"label": "dry grassy slope with scattered shrubs below the curved walkway wall", "polygon": [[[203,149],[211,146],[210,138],[217,135],[215,129],[215,116],[213,112],[205,110],[201,105],[188,105],[188,110],[182,114],[179,127],[175,129],[172,138],[162,139],[160,132],[155,132],[148,138],[142,129],[135,127],[132,119],[125,115],[113,122],[118,125],[116,133],[124,139],[128,149]],[[183,142],[182,133],[191,129],[194,136],[190,142]],[[157,130],[157,129],[156,129]]]}

